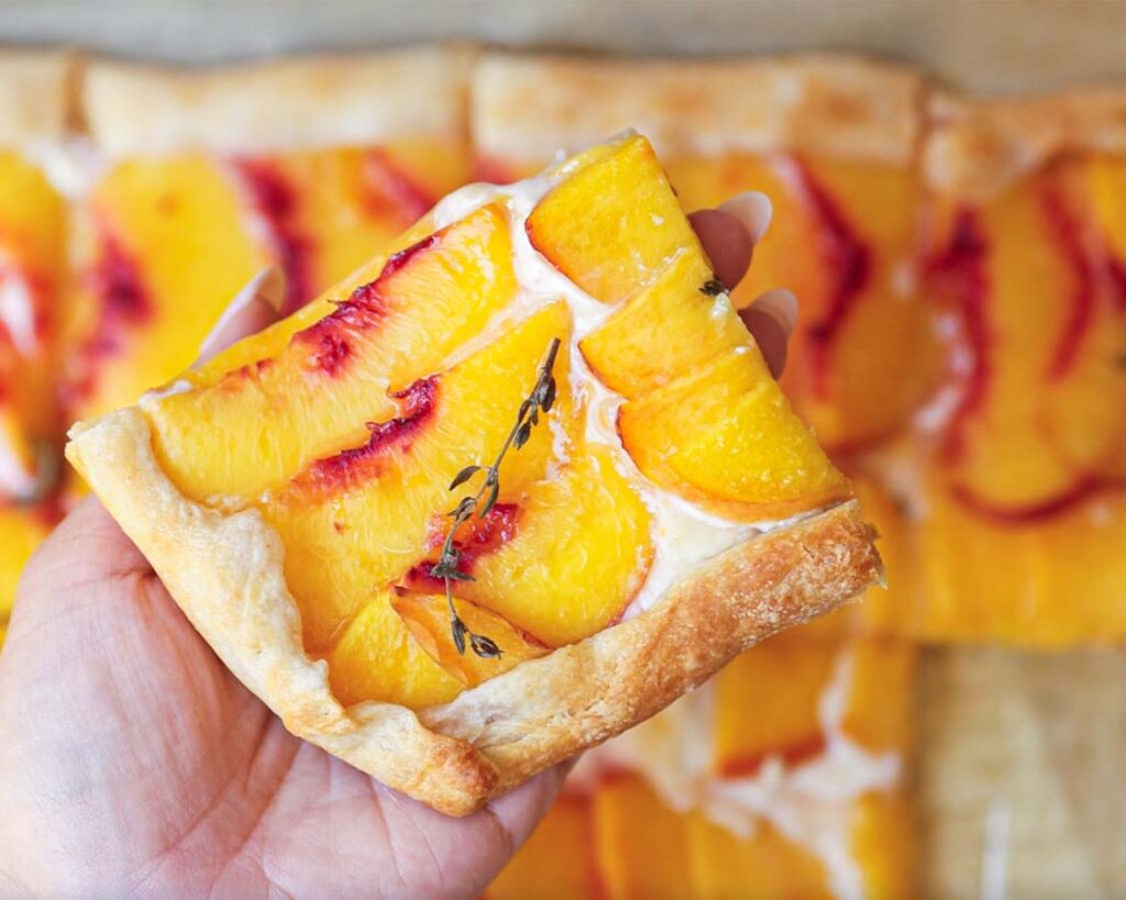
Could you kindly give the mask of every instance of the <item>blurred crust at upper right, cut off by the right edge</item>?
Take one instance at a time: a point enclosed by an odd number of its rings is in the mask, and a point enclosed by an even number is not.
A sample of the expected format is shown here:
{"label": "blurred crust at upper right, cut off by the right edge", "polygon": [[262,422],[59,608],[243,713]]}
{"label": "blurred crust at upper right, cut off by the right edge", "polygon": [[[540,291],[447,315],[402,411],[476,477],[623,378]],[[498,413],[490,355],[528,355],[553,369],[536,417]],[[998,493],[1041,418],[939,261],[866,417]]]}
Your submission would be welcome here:
{"label": "blurred crust at upper right, cut off by the right edge", "polygon": [[971,201],[997,196],[1065,153],[1126,152],[1121,88],[988,100],[937,92],[927,118],[927,183]]}

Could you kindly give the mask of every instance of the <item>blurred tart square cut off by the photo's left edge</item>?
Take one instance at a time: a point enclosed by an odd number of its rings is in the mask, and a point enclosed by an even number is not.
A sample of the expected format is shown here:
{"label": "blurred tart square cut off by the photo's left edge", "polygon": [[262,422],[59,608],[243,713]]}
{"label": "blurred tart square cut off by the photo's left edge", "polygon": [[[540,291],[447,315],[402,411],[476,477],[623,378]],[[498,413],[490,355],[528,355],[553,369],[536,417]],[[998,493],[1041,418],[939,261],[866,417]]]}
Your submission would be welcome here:
{"label": "blurred tart square cut off by the photo's left edge", "polygon": [[0,53],[0,638],[24,562],[56,518],[52,376],[68,213],[45,163],[66,135],[71,63],[61,53]]}

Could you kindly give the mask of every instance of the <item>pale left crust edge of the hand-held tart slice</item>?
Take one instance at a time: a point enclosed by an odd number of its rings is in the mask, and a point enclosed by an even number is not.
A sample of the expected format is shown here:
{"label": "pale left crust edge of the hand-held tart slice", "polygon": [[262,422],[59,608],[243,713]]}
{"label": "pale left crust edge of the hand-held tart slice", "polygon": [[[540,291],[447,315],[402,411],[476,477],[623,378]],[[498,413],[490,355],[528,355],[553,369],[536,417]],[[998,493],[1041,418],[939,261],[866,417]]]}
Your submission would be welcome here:
{"label": "pale left crust edge of the hand-held tart slice", "polygon": [[227,668],[305,740],[437,809],[480,804],[498,773],[472,745],[425,728],[391,703],[343,709],[328,664],[304,651],[283,576],[285,550],[257,511],[193,503],[161,470],[148,420],[118,410],[71,430],[66,457],[141,549]]}

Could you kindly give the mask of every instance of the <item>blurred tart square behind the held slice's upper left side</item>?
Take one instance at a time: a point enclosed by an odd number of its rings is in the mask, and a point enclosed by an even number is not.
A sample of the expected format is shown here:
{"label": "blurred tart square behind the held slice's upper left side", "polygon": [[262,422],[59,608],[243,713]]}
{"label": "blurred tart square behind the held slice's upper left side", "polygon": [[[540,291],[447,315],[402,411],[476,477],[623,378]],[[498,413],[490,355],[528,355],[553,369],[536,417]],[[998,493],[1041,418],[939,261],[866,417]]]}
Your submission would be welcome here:
{"label": "blurred tart square behind the held slice's upper left side", "polygon": [[186,368],[267,264],[288,312],[465,183],[472,52],[177,71],[96,61],[65,396],[71,421]]}

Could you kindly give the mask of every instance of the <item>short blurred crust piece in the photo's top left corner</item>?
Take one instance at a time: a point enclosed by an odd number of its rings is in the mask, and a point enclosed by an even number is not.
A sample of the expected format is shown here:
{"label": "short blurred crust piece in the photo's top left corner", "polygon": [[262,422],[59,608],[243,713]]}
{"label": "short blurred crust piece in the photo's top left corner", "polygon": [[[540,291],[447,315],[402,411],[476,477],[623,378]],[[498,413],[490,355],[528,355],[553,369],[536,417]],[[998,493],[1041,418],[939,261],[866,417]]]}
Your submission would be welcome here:
{"label": "short blurred crust piece in the photo's top left corner", "polygon": [[0,145],[63,137],[71,126],[74,78],[69,53],[0,51]]}

